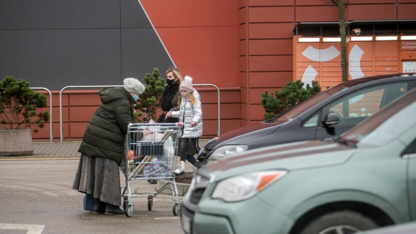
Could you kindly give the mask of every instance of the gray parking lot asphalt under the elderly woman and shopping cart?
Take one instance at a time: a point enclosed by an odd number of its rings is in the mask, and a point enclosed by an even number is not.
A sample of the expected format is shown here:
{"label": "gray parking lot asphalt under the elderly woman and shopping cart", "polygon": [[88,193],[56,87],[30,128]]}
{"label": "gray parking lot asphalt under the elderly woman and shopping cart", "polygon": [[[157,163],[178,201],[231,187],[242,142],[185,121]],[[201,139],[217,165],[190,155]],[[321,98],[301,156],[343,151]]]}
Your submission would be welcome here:
{"label": "gray parking lot asphalt under the elderly woman and shopping cart", "polygon": [[[133,198],[132,217],[82,210],[83,194],[72,189],[77,159],[0,159],[0,233],[182,233],[171,195],[159,194],[147,210]],[[120,174],[121,186],[124,176]],[[137,181],[133,190],[154,191]],[[179,197],[181,199],[181,197]]]}

